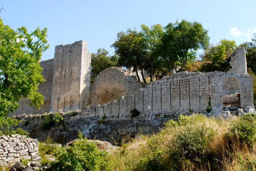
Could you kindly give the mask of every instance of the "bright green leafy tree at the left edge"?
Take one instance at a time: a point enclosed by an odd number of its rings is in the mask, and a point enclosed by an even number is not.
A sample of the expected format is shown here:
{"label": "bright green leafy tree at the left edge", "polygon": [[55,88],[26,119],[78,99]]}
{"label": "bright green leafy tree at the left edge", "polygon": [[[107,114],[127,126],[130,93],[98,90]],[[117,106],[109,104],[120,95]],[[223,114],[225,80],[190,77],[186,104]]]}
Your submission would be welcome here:
{"label": "bright green leafy tree at the left edge", "polygon": [[25,27],[17,31],[0,19],[0,115],[8,115],[19,107],[21,97],[31,100],[40,109],[44,97],[37,86],[44,82],[40,59],[47,45],[47,28],[28,33]]}

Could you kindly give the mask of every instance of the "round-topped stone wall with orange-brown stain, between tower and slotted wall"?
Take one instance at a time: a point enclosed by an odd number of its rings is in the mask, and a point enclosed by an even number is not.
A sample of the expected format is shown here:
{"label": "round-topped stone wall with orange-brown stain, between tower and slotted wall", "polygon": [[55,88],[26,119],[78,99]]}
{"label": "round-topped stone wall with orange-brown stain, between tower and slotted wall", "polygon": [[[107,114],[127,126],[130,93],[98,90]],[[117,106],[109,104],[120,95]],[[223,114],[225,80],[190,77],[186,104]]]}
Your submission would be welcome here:
{"label": "round-topped stone wall with orange-brown stain, between tower and slotted wall", "polygon": [[104,104],[119,99],[122,95],[135,94],[142,84],[121,68],[109,68],[101,72],[91,84],[90,103]]}

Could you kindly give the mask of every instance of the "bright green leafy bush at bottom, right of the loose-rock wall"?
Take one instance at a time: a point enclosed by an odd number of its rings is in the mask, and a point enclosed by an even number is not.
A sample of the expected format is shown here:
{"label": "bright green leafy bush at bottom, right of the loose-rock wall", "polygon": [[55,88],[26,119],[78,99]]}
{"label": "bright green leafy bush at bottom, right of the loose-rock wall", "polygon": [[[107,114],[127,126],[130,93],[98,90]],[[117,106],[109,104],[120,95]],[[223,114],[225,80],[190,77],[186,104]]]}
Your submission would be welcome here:
{"label": "bright green leafy bush at bottom, right of the loose-rock wall", "polygon": [[100,151],[96,144],[87,139],[77,139],[67,147],[54,151],[56,162],[53,171],[102,171],[107,167],[107,152]]}

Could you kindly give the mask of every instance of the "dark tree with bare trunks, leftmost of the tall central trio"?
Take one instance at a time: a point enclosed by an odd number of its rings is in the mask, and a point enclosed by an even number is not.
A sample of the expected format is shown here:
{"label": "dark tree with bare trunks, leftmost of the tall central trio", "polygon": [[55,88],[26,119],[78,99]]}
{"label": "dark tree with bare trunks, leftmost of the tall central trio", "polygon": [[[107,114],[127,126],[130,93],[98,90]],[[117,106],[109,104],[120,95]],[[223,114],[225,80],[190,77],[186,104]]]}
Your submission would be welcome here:
{"label": "dark tree with bare trunks, leftmost of the tall central trio", "polygon": [[143,69],[147,54],[144,51],[145,46],[142,33],[130,28],[126,32],[121,31],[117,33],[116,41],[111,45],[111,47],[115,48],[115,52],[119,56],[118,64],[126,68],[133,68],[139,82],[139,71],[142,71],[141,74],[144,83],[146,83],[146,79],[143,75]]}

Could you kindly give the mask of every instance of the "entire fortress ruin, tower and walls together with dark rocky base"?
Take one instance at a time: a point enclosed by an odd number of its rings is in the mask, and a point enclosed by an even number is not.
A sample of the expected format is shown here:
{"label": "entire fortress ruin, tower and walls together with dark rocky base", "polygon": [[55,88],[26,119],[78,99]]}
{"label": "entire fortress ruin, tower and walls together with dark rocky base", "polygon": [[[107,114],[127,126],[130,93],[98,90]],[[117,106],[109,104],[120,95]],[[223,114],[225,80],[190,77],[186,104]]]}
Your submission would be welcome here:
{"label": "entire fortress ruin, tower and walls together with dark rocky base", "polygon": [[[36,110],[22,98],[19,109],[10,115],[17,115],[22,120],[20,127],[39,140],[50,135],[57,142],[68,142],[78,130],[89,139],[108,141],[141,131],[152,133],[182,113],[232,116],[255,112],[244,47],[232,54],[226,73],[178,72],[150,84],[137,82],[133,73],[121,68],[106,69],[90,84],[90,64],[85,41],[56,46],[54,59],[40,62],[46,80],[39,85],[44,105]],[[134,109],[139,114],[136,117],[131,116]],[[66,113],[62,125],[42,130],[45,112],[70,110],[78,112]]]}

